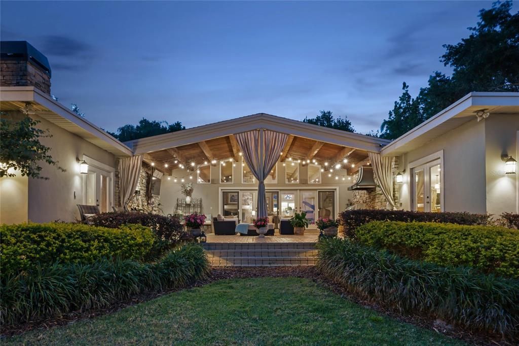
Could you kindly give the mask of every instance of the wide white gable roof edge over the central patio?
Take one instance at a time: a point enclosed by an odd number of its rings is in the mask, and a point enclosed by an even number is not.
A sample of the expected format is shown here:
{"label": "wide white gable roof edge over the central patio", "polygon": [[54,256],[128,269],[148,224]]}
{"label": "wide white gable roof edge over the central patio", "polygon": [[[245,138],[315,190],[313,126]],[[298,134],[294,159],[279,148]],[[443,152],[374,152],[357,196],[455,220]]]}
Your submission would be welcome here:
{"label": "wide white gable roof edge over the central patio", "polygon": [[376,137],[353,134],[323,126],[299,122],[266,113],[258,113],[181,131],[125,142],[135,154],[144,154],[181,145],[197,143],[240,132],[264,128],[288,135],[308,138],[344,147],[379,152],[390,141]]}

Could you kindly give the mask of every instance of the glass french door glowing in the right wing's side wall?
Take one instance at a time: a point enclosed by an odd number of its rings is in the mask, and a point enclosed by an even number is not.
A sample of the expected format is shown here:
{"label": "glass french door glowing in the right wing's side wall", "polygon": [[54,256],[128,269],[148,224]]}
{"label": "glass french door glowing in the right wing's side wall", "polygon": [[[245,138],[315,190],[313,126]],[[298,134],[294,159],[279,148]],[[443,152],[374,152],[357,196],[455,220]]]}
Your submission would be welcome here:
{"label": "glass french door glowing in the right wing's side wall", "polygon": [[436,159],[412,169],[413,210],[443,210],[441,161]]}

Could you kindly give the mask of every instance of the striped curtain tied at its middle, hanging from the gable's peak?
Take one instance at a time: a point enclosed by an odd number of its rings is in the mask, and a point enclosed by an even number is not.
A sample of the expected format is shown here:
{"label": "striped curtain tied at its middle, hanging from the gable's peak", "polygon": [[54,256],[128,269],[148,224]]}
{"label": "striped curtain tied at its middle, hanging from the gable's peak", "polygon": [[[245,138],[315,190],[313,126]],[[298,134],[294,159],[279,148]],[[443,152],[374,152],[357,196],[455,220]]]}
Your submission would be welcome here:
{"label": "striped curtain tied at its middle, hanging from the gable's peak", "polygon": [[258,218],[267,217],[265,178],[279,159],[288,135],[270,130],[252,130],[237,134],[236,141],[243,153],[243,159],[252,175],[258,180]]}

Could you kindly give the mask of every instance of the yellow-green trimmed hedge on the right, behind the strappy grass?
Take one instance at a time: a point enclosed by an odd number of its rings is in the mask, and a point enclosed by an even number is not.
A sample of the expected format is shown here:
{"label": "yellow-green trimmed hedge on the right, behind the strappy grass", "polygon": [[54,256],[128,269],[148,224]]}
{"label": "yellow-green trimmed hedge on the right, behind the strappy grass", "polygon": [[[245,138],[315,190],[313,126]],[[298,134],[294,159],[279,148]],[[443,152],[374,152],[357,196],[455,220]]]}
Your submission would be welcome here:
{"label": "yellow-green trimmed hedge on the right, behind the strappy grass", "polygon": [[373,221],[357,240],[377,249],[439,265],[466,265],[519,278],[519,231],[496,226]]}

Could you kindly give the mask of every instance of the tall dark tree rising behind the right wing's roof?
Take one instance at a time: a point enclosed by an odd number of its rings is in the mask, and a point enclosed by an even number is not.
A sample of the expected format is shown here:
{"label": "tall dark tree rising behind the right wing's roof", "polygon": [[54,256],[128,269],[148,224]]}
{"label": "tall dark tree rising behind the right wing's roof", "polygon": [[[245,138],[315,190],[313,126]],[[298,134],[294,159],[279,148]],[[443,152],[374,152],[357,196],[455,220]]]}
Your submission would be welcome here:
{"label": "tall dark tree rising behind the right wing's roof", "polygon": [[410,98],[404,88],[380,128],[381,137],[399,137],[418,119],[425,121],[471,91],[519,91],[519,12],[512,15],[511,9],[512,2],[506,1],[480,10],[469,37],[443,45],[446,51],[440,61],[453,69],[452,76],[435,71],[428,86],[412,99],[417,103],[413,107],[404,107]]}

